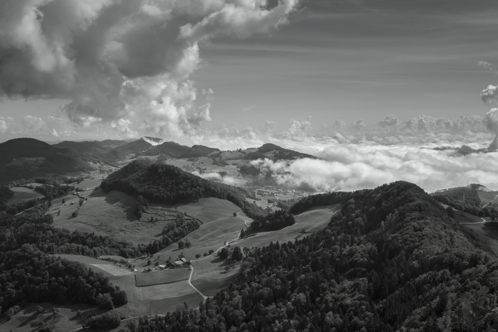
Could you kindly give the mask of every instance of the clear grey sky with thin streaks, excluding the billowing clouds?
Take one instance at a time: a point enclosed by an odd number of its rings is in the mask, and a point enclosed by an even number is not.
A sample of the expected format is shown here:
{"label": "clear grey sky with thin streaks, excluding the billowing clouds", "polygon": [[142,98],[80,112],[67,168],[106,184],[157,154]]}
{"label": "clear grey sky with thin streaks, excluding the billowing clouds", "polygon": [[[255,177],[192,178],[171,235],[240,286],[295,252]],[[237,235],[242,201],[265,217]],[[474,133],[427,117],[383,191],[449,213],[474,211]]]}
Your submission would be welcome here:
{"label": "clear grey sky with thin streaks, excluding the billowing clouds", "polygon": [[[202,40],[199,64],[188,75],[197,90],[213,91],[211,121],[203,121],[202,127],[257,126],[268,120],[284,129],[292,118],[311,116],[314,130],[319,130],[336,119],[349,123],[363,118],[370,123],[390,114],[400,119],[419,114],[484,116],[489,106],[479,95],[495,83],[496,74],[478,63],[496,59],[496,43],[490,36],[498,8],[488,0],[479,4],[303,0],[286,14],[287,22],[273,24],[268,32]],[[26,115],[47,122],[70,102],[22,97],[26,96],[3,96],[1,116],[16,123]],[[78,125],[69,136],[135,134],[95,133]],[[22,124],[18,127],[20,135],[33,133]],[[46,128],[47,133],[53,129]]]}

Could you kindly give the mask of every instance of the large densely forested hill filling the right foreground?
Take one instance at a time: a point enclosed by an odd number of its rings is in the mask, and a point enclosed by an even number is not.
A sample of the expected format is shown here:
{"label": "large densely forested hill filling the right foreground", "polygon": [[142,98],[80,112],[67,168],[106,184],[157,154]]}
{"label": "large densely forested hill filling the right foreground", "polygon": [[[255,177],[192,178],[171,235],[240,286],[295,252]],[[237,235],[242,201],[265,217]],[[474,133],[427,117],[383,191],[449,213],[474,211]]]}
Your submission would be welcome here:
{"label": "large densely forested hill filling the right foreground", "polygon": [[[479,331],[496,327],[497,258],[422,189],[315,197],[344,203],[327,228],[256,248],[199,313],[178,309],[137,331],[467,331],[469,302]],[[481,285],[492,296],[477,301]]]}

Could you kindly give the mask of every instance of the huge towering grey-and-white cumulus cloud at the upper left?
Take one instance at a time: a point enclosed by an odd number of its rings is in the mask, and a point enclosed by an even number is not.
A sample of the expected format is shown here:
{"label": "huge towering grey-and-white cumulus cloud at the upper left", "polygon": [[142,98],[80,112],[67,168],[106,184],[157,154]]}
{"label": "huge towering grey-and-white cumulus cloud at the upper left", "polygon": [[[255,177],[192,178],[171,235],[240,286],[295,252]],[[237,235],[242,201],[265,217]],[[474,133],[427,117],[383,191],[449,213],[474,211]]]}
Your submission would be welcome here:
{"label": "huge towering grey-and-white cumulus cloud at the upper left", "polygon": [[75,129],[190,136],[211,119],[213,91],[198,93],[188,79],[201,61],[200,43],[267,33],[297,4],[1,1],[0,97],[70,100],[62,111]]}

